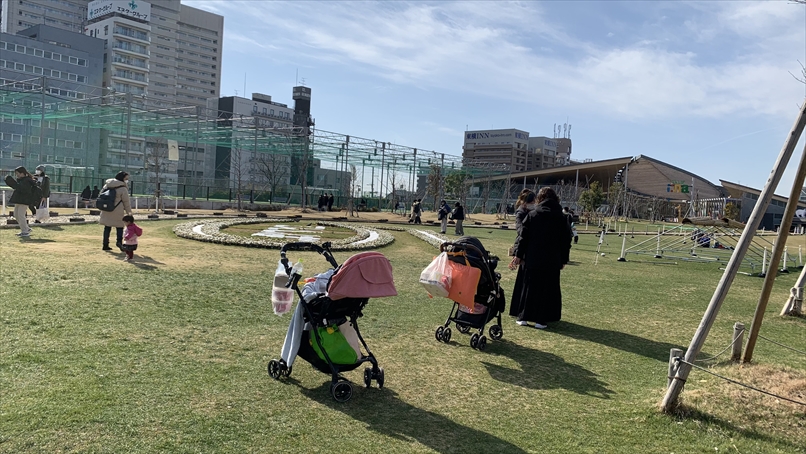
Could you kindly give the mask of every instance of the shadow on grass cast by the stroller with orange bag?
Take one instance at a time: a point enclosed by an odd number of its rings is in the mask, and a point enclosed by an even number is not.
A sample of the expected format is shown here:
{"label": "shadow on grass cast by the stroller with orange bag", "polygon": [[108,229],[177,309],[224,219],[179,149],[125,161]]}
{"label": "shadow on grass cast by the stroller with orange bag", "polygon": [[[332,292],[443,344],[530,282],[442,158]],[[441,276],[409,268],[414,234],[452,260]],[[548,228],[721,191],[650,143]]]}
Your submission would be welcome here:
{"label": "shadow on grass cast by the stroller with orange bag", "polygon": [[490,377],[511,385],[529,389],[566,389],[602,399],[609,399],[613,391],[607,383],[582,366],[566,362],[563,358],[540,350],[518,345],[506,340],[497,341],[495,352],[520,363],[520,369],[481,363],[487,368]]}

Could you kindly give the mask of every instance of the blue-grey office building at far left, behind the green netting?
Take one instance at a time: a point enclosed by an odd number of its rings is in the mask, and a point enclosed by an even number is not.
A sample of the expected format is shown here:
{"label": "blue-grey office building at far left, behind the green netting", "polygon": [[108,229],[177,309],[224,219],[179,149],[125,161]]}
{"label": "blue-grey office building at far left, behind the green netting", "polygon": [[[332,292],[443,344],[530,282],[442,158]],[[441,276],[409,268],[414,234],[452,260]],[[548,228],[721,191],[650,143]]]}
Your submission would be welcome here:
{"label": "blue-grey office building at far left, behind the green netting", "polygon": [[[59,111],[64,101],[99,102],[103,78],[104,42],[100,39],[46,25],[11,35],[0,33],[0,84],[21,91],[42,92],[41,100],[12,101],[23,118],[0,120],[0,168],[38,164],[50,168],[92,168],[99,165],[98,129],[89,117],[77,121],[43,121],[26,112]],[[26,104],[27,105],[22,105]]]}

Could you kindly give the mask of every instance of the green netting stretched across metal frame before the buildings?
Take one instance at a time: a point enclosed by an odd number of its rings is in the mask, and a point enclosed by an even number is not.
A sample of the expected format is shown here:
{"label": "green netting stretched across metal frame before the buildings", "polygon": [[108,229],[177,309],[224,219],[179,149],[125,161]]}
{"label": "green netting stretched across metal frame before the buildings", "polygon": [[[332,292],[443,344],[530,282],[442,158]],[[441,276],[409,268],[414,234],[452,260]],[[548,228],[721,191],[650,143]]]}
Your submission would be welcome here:
{"label": "green netting stretched across metal frame before the buildings", "polygon": [[[462,165],[461,156],[346,134],[306,128],[273,128],[260,117],[232,116],[195,106],[158,107],[153,100],[126,94],[70,99],[46,93],[37,81],[0,87],[0,115],[6,121],[57,121],[67,126],[99,129],[123,137],[175,140],[187,146],[237,148],[246,152],[313,158],[337,168],[383,169],[411,175],[443,175],[463,171],[471,178],[508,171],[502,165]],[[20,89],[22,87],[22,89]]]}

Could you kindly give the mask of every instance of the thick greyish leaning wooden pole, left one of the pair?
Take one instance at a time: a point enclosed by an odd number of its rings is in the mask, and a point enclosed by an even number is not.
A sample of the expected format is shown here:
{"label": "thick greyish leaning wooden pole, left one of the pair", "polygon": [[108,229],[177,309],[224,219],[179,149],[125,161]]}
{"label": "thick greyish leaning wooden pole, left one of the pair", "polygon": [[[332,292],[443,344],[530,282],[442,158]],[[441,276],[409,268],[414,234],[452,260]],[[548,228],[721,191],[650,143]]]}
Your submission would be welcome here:
{"label": "thick greyish leaning wooden pole, left one of the pair", "polygon": [[[764,189],[762,189],[755,207],[753,207],[753,212],[750,214],[750,218],[747,220],[747,226],[745,227],[741,238],[739,238],[739,241],[736,244],[736,249],[731,255],[728,264],[725,266],[722,279],[720,279],[719,284],[714,291],[714,295],[711,298],[711,302],[708,304],[705,314],[703,314],[700,326],[697,328],[697,332],[694,333],[694,337],[691,340],[691,345],[686,351],[685,356],[686,361],[689,363],[694,362],[695,358],[702,350],[703,344],[705,344],[705,339],[708,337],[708,332],[711,330],[711,326],[714,324],[716,315],[719,313],[719,309],[722,307],[722,303],[725,301],[728,290],[730,290],[730,285],[733,282],[733,279],[736,277],[736,272],[739,270],[739,266],[741,266],[741,262],[747,253],[747,249],[750,247],[750,244],[753,241],[755,230],[758,228],[759,222],[761,221],[761,218],[764,216],[764,212],[767,210],[767,207],[770,204],[773,192],[775,191],[775,188],[778,186],[778,182],[781,180],[781,177],[784,174],[786,164],[792,157],[792,152],[795,149],[798,138],[803,133],[804,126],[806,126],[806,102],[801,104],[801,109],[798,113],[797,119],[795,120],[795,124],[792,126],[792,130],[790,131],[789,136],[781,149],[778,160],[775,162],[773,171],[770,174],[770,177],[767,179],[767,183],[764,185]],[[680,368],[675,374],[672,384],[669,386],[669,389],[666,391],[666,395],[663,398],[661,408],[664,411],[668,412],[677,405],[677,398],[680,396],[680,393],[683,392],[683,386],[688,379],[689,372],[691,372],[691,366],[686,363],[681,363]]]}

